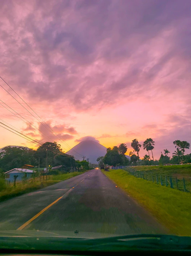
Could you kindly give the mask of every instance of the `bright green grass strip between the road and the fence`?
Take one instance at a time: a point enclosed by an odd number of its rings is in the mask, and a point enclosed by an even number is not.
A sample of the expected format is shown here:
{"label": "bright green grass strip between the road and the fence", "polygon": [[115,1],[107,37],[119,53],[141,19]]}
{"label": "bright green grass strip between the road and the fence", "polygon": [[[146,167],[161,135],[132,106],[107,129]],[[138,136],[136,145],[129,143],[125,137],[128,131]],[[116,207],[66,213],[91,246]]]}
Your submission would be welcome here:
{"label": "bright green grass strip between the road and the fence", "polygon": [[191,194],[136,178],[125,170],[102,172],[166,226],[169,233],[191,236]]}

